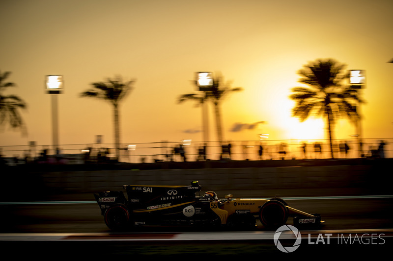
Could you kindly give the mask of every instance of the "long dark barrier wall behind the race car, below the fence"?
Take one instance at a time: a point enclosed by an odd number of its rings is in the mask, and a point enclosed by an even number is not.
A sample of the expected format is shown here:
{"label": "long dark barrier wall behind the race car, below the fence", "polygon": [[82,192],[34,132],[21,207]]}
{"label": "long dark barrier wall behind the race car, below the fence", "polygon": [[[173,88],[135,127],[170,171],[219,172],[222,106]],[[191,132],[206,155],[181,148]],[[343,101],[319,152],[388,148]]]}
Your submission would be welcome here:
{"label": "long dark barrier wall behind the race car, below the fence", "polygon": [[[340,166],[271,166],[188,169],[95,169],[15,171],[2,174],[2,198],[24,195],[40,198],[59,194],[91,194],[123,190],[123,185],[190,185],[220,197],[326,196],[391,193],[391,160]],[[28,196],[29,195],[29,196]]]}

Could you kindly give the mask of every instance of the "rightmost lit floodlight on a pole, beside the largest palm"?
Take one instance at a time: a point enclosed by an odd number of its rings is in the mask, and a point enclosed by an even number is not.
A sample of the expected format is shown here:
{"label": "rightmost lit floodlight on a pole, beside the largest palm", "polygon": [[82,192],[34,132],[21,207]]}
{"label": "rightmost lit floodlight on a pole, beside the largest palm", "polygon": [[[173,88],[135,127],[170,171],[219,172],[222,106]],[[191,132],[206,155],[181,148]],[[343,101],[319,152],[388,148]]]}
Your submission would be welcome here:
{"label": "rightmost lit floodlight on a pole, beside the largest palm", "polygon": [[[349,72],[349,83],[352,89],[357,89],[359,97],[361,97],[361,91],[365,88],[365,70],[351,70]],[[357,129],[358,129],[358,142],[359,142],[359,155],[363,157],[363,142],[362,142],[362,113],[361,113],[361,103],[358,104],[358,115]]]}

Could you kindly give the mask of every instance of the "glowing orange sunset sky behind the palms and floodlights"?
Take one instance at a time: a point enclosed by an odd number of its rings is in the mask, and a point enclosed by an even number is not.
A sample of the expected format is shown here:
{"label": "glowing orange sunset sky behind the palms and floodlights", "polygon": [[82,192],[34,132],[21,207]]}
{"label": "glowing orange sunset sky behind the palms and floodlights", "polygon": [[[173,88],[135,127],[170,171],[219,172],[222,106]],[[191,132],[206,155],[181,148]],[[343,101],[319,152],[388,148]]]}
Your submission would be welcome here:
{"label": "glowing orange sunset sky behind the palms and floodlights", "polygon": [[[58,97],[59,142],[113,142],[112,108],[78,95],[94,81],[135,79],[121,105],[121,141],[202,141],[201,110],[176,104],[196,91],[196,71],[221,72],[241,93],[222,106],[232,141],[323,139],[323,122],[291,117],[296,71],[318,58],[366,70],[363,135],[391,138],[393,128],[393,2],[391,0],[2,0],[0,70],[28,104],[28,136],[2,127],[0,146],[52,143],[47,74],[64,77]],[[212,107],[210,138],[216,139]],[[232,132],[235,123],[258,124]],[[322,128],[322,130],[321,130]],[[186,132],[188,131],[188,132]],[[340,121],[336,138],[355,134]]]}

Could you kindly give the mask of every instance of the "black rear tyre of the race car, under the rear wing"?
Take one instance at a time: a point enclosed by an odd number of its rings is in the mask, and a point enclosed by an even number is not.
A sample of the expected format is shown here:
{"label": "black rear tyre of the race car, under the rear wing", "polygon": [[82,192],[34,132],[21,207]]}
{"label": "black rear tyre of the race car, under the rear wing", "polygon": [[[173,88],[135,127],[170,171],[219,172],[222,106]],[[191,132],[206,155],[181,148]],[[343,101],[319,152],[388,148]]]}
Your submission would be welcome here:
{"label": "black rear tyre of the race car, under the rear wing", "polygon": [[124,231],[130,226],[130,213],[124,204],[114,204],[104,214],[105,224],[113,231]]}

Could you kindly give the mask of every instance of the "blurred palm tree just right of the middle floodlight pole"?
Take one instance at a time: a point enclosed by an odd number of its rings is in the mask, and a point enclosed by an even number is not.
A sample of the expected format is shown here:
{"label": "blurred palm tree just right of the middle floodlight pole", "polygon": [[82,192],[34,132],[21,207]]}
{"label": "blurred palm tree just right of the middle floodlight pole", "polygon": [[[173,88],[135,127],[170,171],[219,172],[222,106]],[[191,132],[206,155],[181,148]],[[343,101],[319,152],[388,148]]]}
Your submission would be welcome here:
{"label": "blurred palm tree just right of the middle floodlight pole", "polygon": [[231,92],[237,92],[243,90],[240,87],[230,88],[230,83],[223,83],[222,76],[214,77],[213,86],[211,91],[203,91],[202,94],[186,94],[180,95],[178,102],[181,103],[186,100],[197,101],[197,105],[204,105],[208,100],[213,102],[214,113],[216,116],[216,127],[217,127],[217,137],[219,142],[223,142],[223,131],[222,131],[222,120],[221,120],[221,110],[220,105],[223,98]]}

